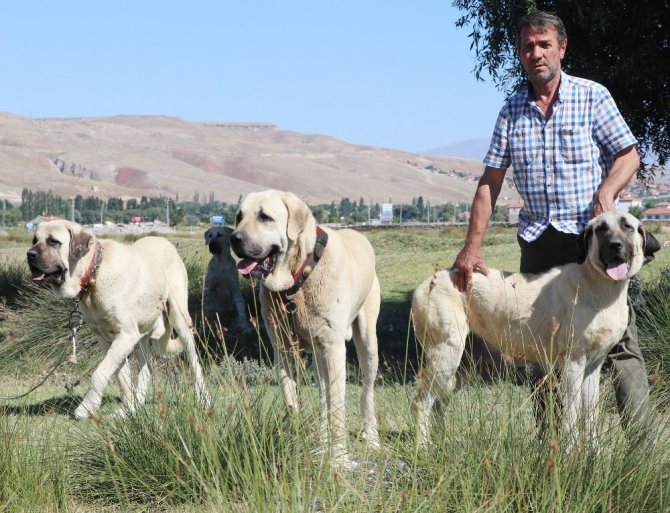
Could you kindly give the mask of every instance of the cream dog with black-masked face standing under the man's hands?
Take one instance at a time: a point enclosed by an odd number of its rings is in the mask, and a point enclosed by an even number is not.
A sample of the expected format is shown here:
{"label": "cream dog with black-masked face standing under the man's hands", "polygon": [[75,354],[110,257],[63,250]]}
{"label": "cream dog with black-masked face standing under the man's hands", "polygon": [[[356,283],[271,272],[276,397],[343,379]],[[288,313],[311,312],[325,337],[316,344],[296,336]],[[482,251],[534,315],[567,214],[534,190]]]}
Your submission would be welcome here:
{"label": "cream dog with black-masked face standing under the man's hands", "polygon": [[600,368],[628,324],[628,280],[660,245],[622,212],[593,219],[579,240],[581,263],[544,274],[490,269],[488,276],[473,274],[467,292],[453,285],[456,271],[447,269],[415,290],[414,327],[426,358],[413,404],[422,444],[435,399],[446,403],[455,389],[470,332],[504,354],[558,370],[565,432],[574,435],[583,415],[595,441]]}

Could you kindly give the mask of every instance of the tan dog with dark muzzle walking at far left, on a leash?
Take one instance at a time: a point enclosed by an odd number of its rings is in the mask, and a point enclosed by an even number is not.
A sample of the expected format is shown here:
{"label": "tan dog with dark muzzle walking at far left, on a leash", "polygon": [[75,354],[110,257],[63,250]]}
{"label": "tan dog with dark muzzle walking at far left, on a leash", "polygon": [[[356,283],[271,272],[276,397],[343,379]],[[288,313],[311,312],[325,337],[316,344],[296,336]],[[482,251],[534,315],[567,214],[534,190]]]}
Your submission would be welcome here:
{"label": "tan dog with dark muzzle walking at far left, on a leash", "polygon": [[[125,399],[116,415],[144,404],[151,377],[145,355],[149,339],[162,352],[186,346],[196,397],[205,406],[211,403],[191,332],[186,268],[167,240],[145,237],[127,246],[98,240],[76,223],[51,221],[35,231],[28,265],[33,281],[49,286],[56,296],[78,299],[83,320],[105,353],[75,418],[98,410],[114,374]],[[179,339],[171,340],[173,329]],[[127,361],[133,352],[139,366],[137,390]]]}

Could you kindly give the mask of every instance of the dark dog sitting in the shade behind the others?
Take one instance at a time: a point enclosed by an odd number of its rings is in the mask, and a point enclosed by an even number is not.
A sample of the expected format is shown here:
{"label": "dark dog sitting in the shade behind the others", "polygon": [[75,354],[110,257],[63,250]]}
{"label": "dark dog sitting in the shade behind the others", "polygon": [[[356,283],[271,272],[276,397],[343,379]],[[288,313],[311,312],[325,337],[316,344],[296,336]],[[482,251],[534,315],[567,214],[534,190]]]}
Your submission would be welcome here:
{"label": "dark dog sitting in the shade behind the others", "polygon": [[205,274],[203,313],[211,328],[219,322],[227,327],[234,315],[234,326],[246,334],[251,331],[246,306],[240,289],[237,264],[230,254],[230,234],[227,226],[213,226],[205,232],[205,244],[212,254]]}

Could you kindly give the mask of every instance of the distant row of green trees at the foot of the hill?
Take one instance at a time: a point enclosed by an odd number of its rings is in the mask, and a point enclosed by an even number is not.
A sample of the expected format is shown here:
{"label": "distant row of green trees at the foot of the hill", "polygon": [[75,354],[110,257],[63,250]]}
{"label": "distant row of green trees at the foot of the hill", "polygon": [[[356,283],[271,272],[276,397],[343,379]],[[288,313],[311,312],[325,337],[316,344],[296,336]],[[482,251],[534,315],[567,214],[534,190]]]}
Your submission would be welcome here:
{"label": "distant row of green trees at the foot of the hill", "polygon": [[[174,225],[208,224],[211,216],[222,215],[226,224],[235,219],[241,196],[235,203],[226,203],[214,199],[214,193],[208,197],[196,193],[188,201],[176,198],[146,197],[122,199],[111,197],[107,200],[95,196],[77,195],[67,199],[52,192],[23,189],[21,205],[12,205],[0,200],[0,221],[2,226],[18,226],[28,223],[40,215],[56,215],[74,219],[82,224],[130,223],[137,219],[160,221]],[[392,203],[389,200],[389,203]],[[374,222],[380,219],[381,204],[367,202],[363,197],[358,201],[342,198],[330,205],[311,205],[314,217],[319,223],[356,224]],[[467,220],[470,205],[468,203],[443,203],[431,205],[422,196],[411,203],[393,203],[394,222],[462,222]],[[496,208],[494,221],[505,220],[504,208]]]}

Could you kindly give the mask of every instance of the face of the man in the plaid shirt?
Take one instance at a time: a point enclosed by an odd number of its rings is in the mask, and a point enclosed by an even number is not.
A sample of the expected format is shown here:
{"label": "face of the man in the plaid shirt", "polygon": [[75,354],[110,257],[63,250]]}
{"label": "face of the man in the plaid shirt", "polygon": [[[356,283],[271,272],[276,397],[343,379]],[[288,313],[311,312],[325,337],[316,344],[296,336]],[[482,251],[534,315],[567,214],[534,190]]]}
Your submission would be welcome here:
{"label": "face of the man in the plaid shirt", "polygon": [[554,28],[536,30],[529,27],[521,30],[520,41],[519,58],[531,83],[541,85],[551,82],[561,71],[567,41],[559,44]]}

